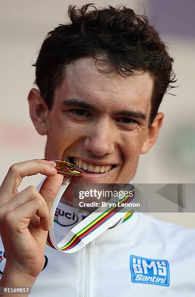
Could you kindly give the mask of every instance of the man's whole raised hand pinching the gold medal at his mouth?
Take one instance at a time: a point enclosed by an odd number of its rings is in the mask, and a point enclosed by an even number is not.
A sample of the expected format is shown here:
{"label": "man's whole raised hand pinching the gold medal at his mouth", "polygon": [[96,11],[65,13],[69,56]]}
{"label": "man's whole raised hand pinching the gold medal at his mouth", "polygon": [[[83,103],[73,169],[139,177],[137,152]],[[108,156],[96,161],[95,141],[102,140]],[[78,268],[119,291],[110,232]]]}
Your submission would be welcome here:
{"label": "man's whole raised hand pinching the gold medal at his mouth", "polygon": [[[36,278],[42,271],[50,225],[50,207],[63,181],[55,162],[31,160],[10,167],[0,187],[0,235],[5,249],[4,271]],[[17,192],[24,176],[48,176],[40,193],[35,187]],[[4,274],[4,273],[3,273]]]}

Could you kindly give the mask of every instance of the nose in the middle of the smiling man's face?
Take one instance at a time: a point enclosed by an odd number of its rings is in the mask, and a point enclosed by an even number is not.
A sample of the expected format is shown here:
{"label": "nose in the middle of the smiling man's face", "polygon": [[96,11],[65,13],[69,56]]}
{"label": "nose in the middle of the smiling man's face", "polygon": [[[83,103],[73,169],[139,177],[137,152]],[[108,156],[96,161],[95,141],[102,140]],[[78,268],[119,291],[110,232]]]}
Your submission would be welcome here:
{"label": "nose in the middle of the smiling man's face", "polygon": [[98,120],[96,124],[92,124],[89,127],[84,147],[96,156],[103,156],[114,152],[114,131],[109,119]]}

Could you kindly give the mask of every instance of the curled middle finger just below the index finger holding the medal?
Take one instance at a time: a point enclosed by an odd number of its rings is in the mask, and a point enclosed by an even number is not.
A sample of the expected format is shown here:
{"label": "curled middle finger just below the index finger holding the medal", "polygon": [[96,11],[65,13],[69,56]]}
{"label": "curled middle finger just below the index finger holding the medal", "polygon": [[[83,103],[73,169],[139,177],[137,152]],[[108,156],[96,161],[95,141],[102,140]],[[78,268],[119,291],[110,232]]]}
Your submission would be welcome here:
{"label": "curled middle finger just below the index finger holding the medal", "polygon": [[47,207],[45,199],[39,194],[37,189],[33,186],[29,186],[0,207],[0,217],[3,217],[4,213],[11,212],[34,198],[41,199],[43,204]]}

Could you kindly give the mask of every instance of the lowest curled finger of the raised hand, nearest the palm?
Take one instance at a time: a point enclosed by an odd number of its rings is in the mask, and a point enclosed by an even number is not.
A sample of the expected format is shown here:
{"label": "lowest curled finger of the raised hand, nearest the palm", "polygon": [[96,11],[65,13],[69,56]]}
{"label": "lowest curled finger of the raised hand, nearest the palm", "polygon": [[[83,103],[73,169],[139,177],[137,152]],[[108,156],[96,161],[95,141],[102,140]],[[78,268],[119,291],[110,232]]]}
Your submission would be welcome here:
{"label": "lowest curled finger of the raised hand, nearest the palm", "polygon": [[4,216],[4,226],[10,231],[20,232],[28,228],[31,217],[40,217],[40,226],[48,231],[50,225],[50,214],[47,206],[39,198],[35,198]]}

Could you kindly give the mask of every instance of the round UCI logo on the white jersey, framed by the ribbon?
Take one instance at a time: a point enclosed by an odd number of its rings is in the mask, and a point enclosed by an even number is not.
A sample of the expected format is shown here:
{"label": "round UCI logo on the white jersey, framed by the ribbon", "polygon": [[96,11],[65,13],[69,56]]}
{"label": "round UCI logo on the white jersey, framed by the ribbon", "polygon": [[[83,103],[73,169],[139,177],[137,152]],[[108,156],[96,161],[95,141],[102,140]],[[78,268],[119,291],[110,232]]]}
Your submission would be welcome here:
{"label": "round UCI logo on the white jersey, framed by the ribbon", "polygon": [[63,227],[68,227],[76,224],[79,220],[79,217],[75,213],[68,213],[60,208],[56,208],[54,221]]}

